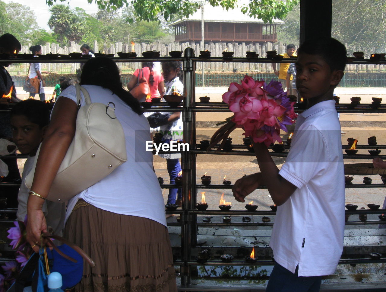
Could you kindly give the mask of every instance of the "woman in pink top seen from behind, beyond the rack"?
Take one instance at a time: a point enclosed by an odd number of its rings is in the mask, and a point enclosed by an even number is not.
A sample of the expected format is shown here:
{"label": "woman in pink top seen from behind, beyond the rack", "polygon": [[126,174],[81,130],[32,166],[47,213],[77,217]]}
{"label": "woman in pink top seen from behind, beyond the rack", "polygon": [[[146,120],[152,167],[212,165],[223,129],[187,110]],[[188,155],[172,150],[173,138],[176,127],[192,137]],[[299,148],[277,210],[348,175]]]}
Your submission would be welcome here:
{"label": "woman in pink top seen from behind, beyond the rack", "polygon": [[[157,71],[153,71],[153,62],[142,62],[142,71],[144,77],[149,83],[151,97],[163,97],[165,94],[165,85],[164,85],[164,77],[161,73]],[[132,90],[138,82],[138,75],[142,78],[141,69],[135,70],[133,77],[131,77],[129,83],[127,84],[127,89]],[[144,101],[144,100],[140,100]]]}

